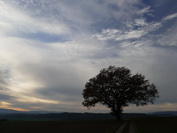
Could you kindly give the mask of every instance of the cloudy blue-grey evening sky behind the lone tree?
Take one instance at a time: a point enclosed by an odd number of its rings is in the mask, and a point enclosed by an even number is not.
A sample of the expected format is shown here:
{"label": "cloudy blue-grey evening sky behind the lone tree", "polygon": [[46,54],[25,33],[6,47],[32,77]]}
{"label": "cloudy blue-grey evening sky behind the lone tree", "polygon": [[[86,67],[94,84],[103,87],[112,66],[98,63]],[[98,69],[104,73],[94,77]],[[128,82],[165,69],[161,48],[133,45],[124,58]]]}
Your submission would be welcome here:
{"label": "cloudy blue-grey evening sky behind the lone tree", "polygon": [[110,112],[82,106],[85,83],[125,66],[154,83],[154,105],[177,110],[176,0],[0,0],[0,108]]}

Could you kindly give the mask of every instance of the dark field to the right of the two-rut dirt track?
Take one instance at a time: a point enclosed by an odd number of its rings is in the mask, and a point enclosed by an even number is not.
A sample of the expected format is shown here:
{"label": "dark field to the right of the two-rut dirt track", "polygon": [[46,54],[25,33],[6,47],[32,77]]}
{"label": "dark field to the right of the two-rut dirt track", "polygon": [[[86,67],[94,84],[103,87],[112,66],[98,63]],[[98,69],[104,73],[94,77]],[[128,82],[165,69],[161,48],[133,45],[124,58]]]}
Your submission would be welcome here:
{"label": "dark field to the right of the two-rut dirt track", "polygon": [[177,117],[135,119],[139,133],[177,133]]}

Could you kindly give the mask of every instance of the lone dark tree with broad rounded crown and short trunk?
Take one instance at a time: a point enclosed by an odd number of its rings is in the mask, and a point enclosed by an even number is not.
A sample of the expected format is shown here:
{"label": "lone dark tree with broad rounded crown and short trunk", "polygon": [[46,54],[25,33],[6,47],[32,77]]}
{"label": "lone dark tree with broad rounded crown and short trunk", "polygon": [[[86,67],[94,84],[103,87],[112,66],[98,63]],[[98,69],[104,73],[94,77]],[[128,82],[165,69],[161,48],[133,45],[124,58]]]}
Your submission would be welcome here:
{"label": "lone dark tree with broad rounded crown and short trunk", "polygon": [[120,120],[123,107],[153,104],[159,95],[156,86],[150,84],[145,76],[133,75],[125,67],[109,66],[85,84],[83,97],[82,104],[88,109],[100,103],[110,108],[111,113]]}

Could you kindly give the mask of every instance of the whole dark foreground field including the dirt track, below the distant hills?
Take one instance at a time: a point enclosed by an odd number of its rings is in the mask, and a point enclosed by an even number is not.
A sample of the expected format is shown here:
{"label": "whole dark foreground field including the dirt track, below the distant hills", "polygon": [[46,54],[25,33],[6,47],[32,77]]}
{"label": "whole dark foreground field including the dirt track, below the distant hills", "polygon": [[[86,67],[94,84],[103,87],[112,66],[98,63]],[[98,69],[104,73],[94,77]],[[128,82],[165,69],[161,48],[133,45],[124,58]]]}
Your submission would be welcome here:
{"label": "whole dark foreground field including the dirt track, below the distant hills", "polygon": [[0,133],[177,133],[177,117],[145,117],[117,122],[0,121]]}

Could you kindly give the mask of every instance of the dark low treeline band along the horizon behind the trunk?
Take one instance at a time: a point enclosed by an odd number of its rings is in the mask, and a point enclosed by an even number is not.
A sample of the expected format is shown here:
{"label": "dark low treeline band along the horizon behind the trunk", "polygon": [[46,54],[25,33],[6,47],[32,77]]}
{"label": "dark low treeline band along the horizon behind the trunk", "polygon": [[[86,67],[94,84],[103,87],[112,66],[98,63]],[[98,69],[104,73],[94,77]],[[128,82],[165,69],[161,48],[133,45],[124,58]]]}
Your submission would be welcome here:
{"label": "dark low treeline band along the horizon behind the trunk", "polygon": [[[123,118],[146,117],[147,114],[123,114]],[[107,120],[115,119],[109,113],[48,113],[48,114],[1,114],[0,120]]]}

